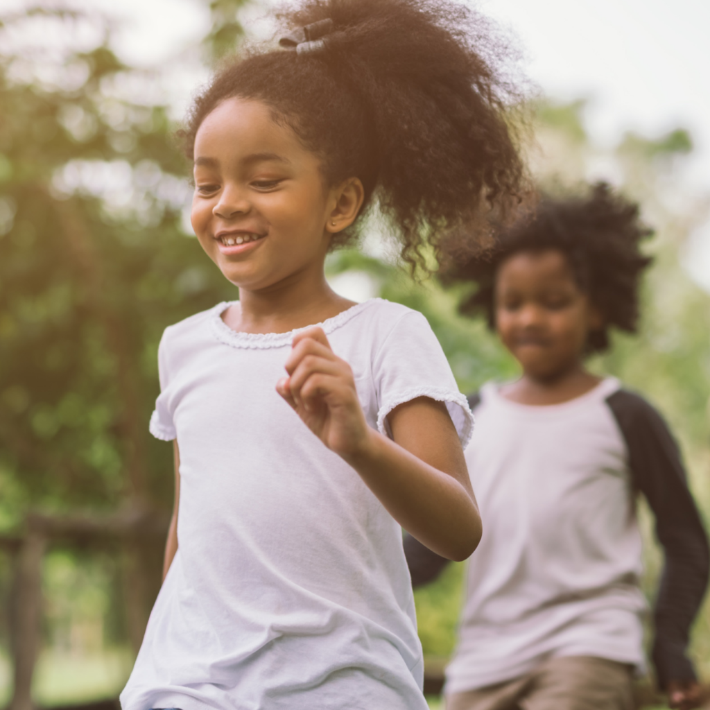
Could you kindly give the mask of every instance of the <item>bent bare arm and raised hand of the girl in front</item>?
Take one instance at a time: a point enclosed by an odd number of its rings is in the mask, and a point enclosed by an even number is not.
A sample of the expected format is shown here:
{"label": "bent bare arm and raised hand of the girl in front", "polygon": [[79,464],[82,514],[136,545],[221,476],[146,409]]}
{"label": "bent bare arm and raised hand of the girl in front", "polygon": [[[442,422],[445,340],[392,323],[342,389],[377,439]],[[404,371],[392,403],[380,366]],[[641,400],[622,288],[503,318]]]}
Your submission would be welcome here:
{"label": "bent bare arm and raised hand of the girl in front", "polygon": [[302,331],[286,361],[280,395],[361,476],[405,530],[449,559],[466,559],[481,518],[464,453],[444,404],[420,397],[388,416],[394,441],[368,426],[350,366],[321,328]]}

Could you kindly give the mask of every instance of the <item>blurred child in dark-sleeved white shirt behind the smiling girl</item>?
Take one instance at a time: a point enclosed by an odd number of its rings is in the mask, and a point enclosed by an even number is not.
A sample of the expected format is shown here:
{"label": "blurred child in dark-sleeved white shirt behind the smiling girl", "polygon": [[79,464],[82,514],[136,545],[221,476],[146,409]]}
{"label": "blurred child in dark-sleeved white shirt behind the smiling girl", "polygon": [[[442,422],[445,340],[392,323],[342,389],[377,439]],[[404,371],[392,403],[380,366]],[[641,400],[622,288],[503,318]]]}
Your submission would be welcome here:
{"label": "blurred child in dark-sleeved white shirt behind the smiling girl", "polygon": [[[679,452],[660,415],[587,355],[611,326],[635,331],[650,259],[638,208],[606,185],[544,200],[501,237],[491,258],[455,274],[476,283],[483,312],[523,369],[469,402],[466,450],[486,533],[468,572],[448,710],[630,709],[643,667],[641,540],[636,493],[655,515],[665,568],[653,662],[672,707],[699,701],[685,655],[708,576],[708,545]],[[413,581],[445,564],[409,539]]]}

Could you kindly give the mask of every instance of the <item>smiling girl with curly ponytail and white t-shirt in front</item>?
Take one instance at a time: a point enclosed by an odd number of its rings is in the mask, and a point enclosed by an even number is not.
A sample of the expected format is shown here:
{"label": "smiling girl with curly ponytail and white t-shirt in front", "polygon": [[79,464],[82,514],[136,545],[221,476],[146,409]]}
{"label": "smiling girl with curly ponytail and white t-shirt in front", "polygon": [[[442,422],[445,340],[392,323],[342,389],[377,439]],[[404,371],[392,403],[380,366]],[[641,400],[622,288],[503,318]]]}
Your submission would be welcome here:
{"label": "smiling girl with curly ponytail and white t-shirt in front", "polygon": [[410,265],[515,195],[490,48],[444,0],[286,19],[182,133],[192,225],[239,301],[160,343],[175,513],[126,710],[424,709],[400,525],[452,559],[481,535],[471,414],[427,322],[339,297],[324,259],[374,194]]}

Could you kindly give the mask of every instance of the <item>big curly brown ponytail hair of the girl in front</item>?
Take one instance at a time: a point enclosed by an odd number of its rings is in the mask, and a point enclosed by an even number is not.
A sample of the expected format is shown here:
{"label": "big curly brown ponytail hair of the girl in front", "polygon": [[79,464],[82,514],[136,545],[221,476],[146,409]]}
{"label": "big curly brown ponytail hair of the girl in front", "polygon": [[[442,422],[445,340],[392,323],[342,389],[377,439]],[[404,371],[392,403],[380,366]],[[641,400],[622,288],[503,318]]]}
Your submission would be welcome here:
{"label": "big curly brown ponytail hair of the girl in front", "polygon": [[452,0],[303,0],[286,27],[329,19],[322,49],[256,50],[230,60],[180,131],[192,160],[204,118],[231,97],[257,99],[319,155],[329,185],[360,178],[356,239],[373,202],[414,270],[452,234],[483,238],[489,216],[525,190],[510,107],[522,92],[498,71],[509,52],[490,24]]}

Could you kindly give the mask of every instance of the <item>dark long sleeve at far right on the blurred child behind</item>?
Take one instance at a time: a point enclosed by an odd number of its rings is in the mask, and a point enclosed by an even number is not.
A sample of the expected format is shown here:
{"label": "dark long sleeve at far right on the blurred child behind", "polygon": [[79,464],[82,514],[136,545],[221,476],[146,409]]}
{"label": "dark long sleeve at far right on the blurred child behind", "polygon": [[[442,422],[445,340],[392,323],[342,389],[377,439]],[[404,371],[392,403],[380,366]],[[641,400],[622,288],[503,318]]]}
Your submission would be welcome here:
{"label": "dark long sleeve at far right on the blurred child behind", "polygon": [[643,398],[623,390],[607,403],[626,440],[633,484],[653,510],[665,552],[654,610],[657,679],[665,690],[688,687],[696,682],[686,650],[707,586],[708,540],[679,449],[660,414]]}

